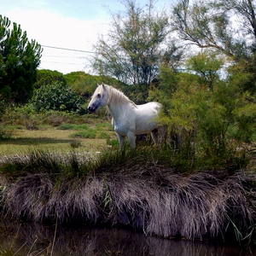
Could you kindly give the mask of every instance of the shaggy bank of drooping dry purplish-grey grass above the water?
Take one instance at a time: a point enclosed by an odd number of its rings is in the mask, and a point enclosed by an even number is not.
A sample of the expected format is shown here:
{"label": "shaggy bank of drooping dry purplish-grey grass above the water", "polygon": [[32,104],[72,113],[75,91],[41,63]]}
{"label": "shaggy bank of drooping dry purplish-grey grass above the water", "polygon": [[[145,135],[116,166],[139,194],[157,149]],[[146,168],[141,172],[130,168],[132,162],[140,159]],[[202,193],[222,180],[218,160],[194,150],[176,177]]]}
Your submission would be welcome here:
{"label": "shaggy bank of drooping dry purplish-grey grass above the water", "polygon": [[177,173],[143,150],[95,160],[33,153],[6,160],[0,171],[6,218],[125,225],[189,239],[255,236],[256,175],[241,171]]}

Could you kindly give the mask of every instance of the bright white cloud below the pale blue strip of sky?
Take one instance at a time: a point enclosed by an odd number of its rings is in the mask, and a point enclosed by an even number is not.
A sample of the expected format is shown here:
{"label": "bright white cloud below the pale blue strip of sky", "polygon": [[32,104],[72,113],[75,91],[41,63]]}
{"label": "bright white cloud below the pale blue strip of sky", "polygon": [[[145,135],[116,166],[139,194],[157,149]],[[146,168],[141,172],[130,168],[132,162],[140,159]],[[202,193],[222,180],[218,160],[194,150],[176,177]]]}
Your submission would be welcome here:
{"label": "bright white cloud below the pale blue strip of sky", "polygon": [[[20,24],[29,39],[58,48],[91,51],[98,35],[108,31],[108,22],[64,17],[49,9],[12,9],[6,16]],[[61,73],[87,71],[84,69],[86,56],[82,52],[44,47],[39,68],[58,70]]]}

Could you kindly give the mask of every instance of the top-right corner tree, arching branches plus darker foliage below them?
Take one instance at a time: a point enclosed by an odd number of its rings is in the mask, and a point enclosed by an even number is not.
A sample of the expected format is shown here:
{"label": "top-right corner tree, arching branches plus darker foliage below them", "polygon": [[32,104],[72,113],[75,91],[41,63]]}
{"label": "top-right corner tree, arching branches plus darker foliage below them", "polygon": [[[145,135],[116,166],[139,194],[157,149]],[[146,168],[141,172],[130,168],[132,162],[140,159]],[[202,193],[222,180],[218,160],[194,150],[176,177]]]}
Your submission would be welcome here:
{"label": "top-right corner tree, arching branches plus darker foliage below them", "polygon": [[239,80],[250,97],[256,92],[255,11],[255,0],[179,0],[172,12],[172,28],[179,38],[228,56],[230,79]]}

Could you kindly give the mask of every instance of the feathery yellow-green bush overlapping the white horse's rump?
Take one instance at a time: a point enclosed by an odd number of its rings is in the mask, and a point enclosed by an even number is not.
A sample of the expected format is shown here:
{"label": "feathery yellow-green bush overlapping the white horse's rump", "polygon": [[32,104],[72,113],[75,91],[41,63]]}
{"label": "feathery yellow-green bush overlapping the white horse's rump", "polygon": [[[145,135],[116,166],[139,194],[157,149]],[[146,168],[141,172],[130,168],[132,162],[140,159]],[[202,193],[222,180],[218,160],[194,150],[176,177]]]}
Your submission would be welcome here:
{"label": "feathery yellow-green bush overlapping the white horse's rump", "polygon": [[149,93],[164,106],[160,122],[169,128],[169,143],[189,159],[201,154],[229,159],[242,142],[253,141],[256,105],[239,84],[219,78],[222,62],[209,56],[192,56],[187,62],[192,73],[162,67],[160,83]]}

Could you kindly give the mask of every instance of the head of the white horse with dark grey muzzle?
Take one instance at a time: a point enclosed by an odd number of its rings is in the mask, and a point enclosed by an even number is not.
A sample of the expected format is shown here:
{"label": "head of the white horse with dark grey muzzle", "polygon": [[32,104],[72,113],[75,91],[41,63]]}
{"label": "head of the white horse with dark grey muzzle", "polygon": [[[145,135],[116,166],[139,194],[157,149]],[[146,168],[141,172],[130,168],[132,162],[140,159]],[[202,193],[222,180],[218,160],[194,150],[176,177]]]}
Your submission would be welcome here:
{"label": "head of the white horse with dark grey muzzle", "polygon": [[91,96],[90,103],[88,105],[88,110],[90,112],[96,112],[98,108],[104,107],[108,102],[108,88],[105,84],[97,84],[97,88]]}

